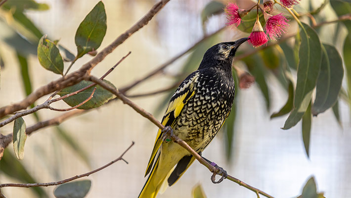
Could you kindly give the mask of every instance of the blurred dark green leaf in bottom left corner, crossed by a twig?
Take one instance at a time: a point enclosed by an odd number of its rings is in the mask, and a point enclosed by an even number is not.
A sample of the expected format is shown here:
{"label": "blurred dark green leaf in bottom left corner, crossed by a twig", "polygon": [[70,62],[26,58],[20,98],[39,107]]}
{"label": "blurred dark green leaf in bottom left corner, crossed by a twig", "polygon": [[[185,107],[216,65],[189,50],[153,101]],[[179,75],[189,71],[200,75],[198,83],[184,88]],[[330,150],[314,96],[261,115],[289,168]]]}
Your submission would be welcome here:
{"label": "blurred dark green leaf in bottom left corner, crossed by a twig", "polygon": [[[0,160],[0,171],[1,174],[6,174],[21,183],[37,183],[37,181],[35,181],[28,173],[21,161],[17,160],[8,149],[4,150],[3,156]],[[38,198],[48,197],[42,187],[33,187],[30,189],[37,194]]]}

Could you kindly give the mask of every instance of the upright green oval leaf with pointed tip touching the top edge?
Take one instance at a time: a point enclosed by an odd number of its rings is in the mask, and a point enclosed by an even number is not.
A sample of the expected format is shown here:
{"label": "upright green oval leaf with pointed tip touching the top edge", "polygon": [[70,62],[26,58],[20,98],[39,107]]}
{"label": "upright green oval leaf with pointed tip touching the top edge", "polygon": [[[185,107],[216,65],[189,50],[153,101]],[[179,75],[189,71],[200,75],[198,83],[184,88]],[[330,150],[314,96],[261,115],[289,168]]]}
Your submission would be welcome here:
{"label": "upright green oval leaf with pointed tip touching the top edge", "polygon": [[106,28],[105,7],[102,1],[99,1],[77,29],[75,41],[78,58],[100,47]]}

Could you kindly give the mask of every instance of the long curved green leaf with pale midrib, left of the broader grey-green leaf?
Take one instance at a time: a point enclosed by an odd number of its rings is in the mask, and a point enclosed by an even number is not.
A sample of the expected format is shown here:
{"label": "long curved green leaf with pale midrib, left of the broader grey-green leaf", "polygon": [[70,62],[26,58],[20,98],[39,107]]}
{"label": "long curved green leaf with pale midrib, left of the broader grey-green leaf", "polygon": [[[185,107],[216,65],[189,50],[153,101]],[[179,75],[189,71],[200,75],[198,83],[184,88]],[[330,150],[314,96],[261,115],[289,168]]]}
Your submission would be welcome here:
{"label": "long curved green leaf with pale midrib, left of the broader grey-green leaf", "polygon": [[285,121],[283,129],[290,129],[302,119],[311,101],[312,92],[320,71],[322,49],[318,35],[304,23],[300,35],[302,40],[299,51],[300,62],[297,71],[294,108]]}

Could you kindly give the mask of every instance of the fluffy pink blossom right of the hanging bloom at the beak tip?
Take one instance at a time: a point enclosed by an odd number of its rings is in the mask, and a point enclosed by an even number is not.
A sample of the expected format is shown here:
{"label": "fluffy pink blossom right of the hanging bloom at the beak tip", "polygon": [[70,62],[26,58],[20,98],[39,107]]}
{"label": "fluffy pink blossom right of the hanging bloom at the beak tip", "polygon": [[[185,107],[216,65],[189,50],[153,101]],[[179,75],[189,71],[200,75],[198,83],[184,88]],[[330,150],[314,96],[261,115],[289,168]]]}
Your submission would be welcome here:
{"label": "fluffy pink blossom right of the hanging bloom at the beak tip", "polygon": [[283,16],[283,13],[274,16],[264,14],[264,18],[266,20],[265,31],[271,40],[279,39],[282,32],[285,33],[290,26],[287,23],[289,20]]}

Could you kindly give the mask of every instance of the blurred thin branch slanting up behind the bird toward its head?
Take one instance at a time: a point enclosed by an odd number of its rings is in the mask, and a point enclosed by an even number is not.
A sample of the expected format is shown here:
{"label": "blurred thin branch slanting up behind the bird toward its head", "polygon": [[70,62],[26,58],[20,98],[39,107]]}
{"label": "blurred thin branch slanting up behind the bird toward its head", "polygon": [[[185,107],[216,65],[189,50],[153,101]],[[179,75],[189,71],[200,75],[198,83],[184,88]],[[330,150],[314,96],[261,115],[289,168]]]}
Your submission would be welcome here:
{"label": "blurred thin branch slanting up behind the bird toward its head", "polygon": [[197,43],[195,43],[194,45],[192,45],[190,48],[184,50],[183,52],[177,54],[175,57],[169,59],[167,62],[163,63],[162,65],[158,66],[155,70],[151,71],[150,73],[146,74],[145,76],[135,80],[134,82],[132,82],[131,84],[119,89],[121,93],[125,93],[128,90],[132,89],[133,87],[135,87],[136,85],[140,84],[141,82],[149,79],[150,77],[160,73],[162,70],[164,70],[167,66],[169,66],[170,64],[172,64],[173,62],[175,62],[175,60],[177,60],[178,58],[180,58],[181,56],[183,56],[184,54],[188,53],[189,51],[195,49],[200,43],[202,43],[203,41],[207,40],[208,38],[212,37],[213,35],[219,33],[220,31],[222,31],[225,27],[219,28],[219,30],[217,30],[216,32],[210,34],[210,35],[206,35],[205,37],[203,37],[200,41],[198,41]]}

